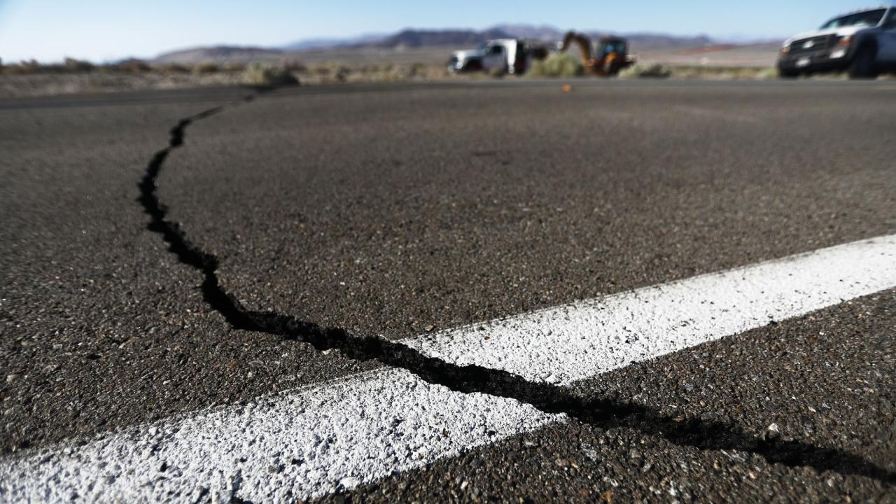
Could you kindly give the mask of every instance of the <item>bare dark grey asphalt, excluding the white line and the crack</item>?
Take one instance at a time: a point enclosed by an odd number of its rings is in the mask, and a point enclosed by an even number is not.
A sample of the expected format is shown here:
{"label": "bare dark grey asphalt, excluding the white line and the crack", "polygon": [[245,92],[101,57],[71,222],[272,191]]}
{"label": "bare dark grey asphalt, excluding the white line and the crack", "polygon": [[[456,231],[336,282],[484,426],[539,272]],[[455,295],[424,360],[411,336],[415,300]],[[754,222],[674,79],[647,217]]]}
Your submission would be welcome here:
{"label": "bare dark grey asphalt, excluding the white line and the crack", "polygon": [[[379,364],[243,306],[400,339],[896,232],[896,87],[480,83],[0,102],[6,453]],[[573,387],[896,472],[893,291]],[[896,500],[862,474],[570,421],[332,500]],[[363,442],[363,440],[359,440]],[[811,457],[810,457],[811,458]]]}

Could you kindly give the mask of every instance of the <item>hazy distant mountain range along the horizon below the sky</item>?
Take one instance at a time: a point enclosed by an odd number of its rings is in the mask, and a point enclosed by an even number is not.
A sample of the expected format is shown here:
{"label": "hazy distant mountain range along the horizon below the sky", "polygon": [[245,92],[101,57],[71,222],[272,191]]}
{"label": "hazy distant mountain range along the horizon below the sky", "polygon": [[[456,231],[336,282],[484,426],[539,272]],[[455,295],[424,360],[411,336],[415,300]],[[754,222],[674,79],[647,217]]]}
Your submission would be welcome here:
{"label": "hazy distant mountain range along the horizon below the sky", "polygon": [[[590,37],[610,34],[608,31],[585,30]],[[705,35],[681,37],[661,33],[624,33],[633,48],[651,50],[701,48],[723,43]],[[202,61],[248,62],[278,59],[284,56],[301,57],[306,51],[328,49],[407,49],[407,48],[468,48],[488,39],[536,39],[556,41],[564,36],[563,30],[542,25],[499,24],[487,30],[401,30],[394,34],[367,34],[352,38],[304,39],[280,47],[214,46],[187,48],[159,55],[158,63],[195,64]],[[741,42],[744,43],[743,41]]]}

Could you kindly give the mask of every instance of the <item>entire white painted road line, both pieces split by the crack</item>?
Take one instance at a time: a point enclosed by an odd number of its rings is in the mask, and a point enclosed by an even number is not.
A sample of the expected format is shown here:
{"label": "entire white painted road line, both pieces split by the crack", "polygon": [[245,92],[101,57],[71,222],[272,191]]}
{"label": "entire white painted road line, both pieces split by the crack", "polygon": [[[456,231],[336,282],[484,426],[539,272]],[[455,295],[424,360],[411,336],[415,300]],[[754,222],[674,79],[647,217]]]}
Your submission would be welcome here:
{"label": "entire white painted road line, both pieces split by the crack", "polygon": [[[894,286],[896,236],[887,236],[408,344],[569,383]],[[0,501],[307,499],[563,419],[383,369],[7,457]]]}

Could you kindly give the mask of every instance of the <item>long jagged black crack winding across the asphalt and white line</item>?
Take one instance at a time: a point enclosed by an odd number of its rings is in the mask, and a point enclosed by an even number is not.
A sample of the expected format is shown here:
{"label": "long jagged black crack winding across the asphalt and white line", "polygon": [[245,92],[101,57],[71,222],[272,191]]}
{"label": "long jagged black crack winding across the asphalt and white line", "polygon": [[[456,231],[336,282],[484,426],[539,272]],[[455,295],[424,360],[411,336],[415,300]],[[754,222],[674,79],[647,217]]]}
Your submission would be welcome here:
{"label": "long jagged black crack winding across the asphalt and white line", "polygon": [[[261,91],[259,91],[261,92]],[[256,95],[243,101],[253,100]],[[836,448],[815,447],[797,440],[758,438],[749,432],[719,421],[681,419],[659,413],[642,404],[607,398],[588,399],[569,389],[547,383],[530,382],[513,373],[481,366],[458,366],[406,346],[377,337],[350,335],[338,327],[322,327],[274,311],[245,308],[218,280],[217,256],[187,239],[177,222],[166,220],[168,208],[156,195],[157,179],[168,155],[184,144],[185,129],[196,121],[219,114],[226,106],[207,109],[185,117],[170,130],[168,147],[157,152],[139,184],[138,201],[151,217],[148,228],[162,235],[168,250],[180,262],[202,273],[202,295],[209,306],[220,313],[235,329],[278,335],[288,340],[309,343],[319,352],[337,350],[355,361],[378,361],[386,366],[405,369],[427,383],[447,387],[464,394],[479,393],[511,398],[530,404],[544,413],[567,416],[601,429],[639,430],[671,443],[703,450],[740,450],[762,456],[771,464],[812,467],[818,472],[832,471],[872,478],[887,485],[896,483],[896,474],[874,465],[861,456]]]}

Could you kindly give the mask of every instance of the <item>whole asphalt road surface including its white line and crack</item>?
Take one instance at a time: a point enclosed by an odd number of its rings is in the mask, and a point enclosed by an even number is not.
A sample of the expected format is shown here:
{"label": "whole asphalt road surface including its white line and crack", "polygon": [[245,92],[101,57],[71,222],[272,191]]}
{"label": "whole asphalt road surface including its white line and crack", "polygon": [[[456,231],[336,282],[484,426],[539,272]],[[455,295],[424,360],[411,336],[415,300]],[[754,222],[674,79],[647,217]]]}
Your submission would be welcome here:
{"label": "whole asphalt road surface including its white line and crack", "polygon": [[0,101],[0,500],[896,501],[896,85],[572,84]]}

